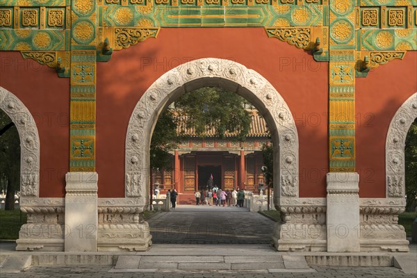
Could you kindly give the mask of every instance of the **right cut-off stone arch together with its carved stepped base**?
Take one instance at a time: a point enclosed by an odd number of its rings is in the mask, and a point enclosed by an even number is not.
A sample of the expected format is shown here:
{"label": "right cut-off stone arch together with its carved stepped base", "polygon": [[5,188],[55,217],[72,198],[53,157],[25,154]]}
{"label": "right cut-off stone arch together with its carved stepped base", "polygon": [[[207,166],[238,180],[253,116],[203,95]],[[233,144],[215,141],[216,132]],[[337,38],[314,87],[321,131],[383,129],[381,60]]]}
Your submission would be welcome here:
{"label": "right cut-off stone arch together with its carved stepped base", "polygon": [[417,117],[417,92],[395,113],[386,135],[385,198],[361,198],[361,251],[408,252],[409,242],[398,215],[405,210],[404,147]]}

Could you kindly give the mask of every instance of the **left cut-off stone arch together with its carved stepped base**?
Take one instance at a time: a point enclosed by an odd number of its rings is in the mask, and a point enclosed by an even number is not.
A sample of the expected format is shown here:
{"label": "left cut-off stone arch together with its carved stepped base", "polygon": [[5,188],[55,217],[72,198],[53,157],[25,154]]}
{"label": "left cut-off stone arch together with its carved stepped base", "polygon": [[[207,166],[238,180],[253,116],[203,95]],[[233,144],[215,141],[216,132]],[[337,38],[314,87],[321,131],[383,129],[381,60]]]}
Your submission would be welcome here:
{"label": "left cut-off stone arch together with its carved stepped base", "polygon": [[20,139],[20,209],[28,220],[19,231],[16,250],[63,251],[63,198],[40,198],[40,140],[28,108],[0,87],[0,109],[15,123]]}

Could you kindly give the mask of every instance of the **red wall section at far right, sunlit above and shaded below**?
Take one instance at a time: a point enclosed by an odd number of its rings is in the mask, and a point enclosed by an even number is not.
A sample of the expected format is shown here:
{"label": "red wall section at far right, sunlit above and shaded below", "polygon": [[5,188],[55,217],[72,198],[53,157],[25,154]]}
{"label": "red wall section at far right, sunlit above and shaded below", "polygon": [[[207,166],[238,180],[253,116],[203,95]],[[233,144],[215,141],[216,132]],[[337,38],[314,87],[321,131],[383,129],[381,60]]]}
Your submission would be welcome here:
{"label": "red wall section at far right, sunlit above and shaded below", "polygon": [[357,172],[360,197],[385,197],[385,142],[398,108],[417,92],[417,53],[356,79]]}

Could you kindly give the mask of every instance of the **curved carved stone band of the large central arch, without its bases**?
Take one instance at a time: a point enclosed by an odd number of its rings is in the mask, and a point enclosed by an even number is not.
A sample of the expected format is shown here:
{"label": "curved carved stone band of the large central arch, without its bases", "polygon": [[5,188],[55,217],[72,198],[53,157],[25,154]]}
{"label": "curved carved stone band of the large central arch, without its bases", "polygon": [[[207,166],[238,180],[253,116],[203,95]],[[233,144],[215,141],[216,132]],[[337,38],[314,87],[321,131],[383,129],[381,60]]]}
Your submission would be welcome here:
{"label": "curved carved stone band of the large central arch, without its bases", "polygon": [[158,115],[186,92],[220,86],[245,97],[268,122],[275,154],[275,204],[298,197],[298,136],[291,112],[277,90],[254,70],[231,60],[203,58],[179,65],[155,81],[136,105],[126,134],[125,196],[147,202],[149,145]]}

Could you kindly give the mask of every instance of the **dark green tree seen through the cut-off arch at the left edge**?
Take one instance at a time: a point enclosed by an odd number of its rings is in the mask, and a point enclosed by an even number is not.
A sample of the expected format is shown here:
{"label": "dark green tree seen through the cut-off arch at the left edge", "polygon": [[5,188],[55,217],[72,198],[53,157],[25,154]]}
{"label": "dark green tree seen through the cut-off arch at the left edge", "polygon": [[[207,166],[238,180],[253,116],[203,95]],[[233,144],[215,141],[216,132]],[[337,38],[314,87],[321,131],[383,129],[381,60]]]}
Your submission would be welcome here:
{"label": "dark green tree seen through the cut-off arch at the left edge", "polygon": [[7,190],[5,209],[15,209],[15,191],[20,183],[20,140],[15,124],[0,109],[0,183]]}

